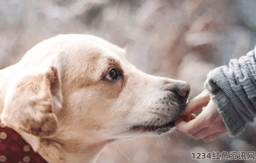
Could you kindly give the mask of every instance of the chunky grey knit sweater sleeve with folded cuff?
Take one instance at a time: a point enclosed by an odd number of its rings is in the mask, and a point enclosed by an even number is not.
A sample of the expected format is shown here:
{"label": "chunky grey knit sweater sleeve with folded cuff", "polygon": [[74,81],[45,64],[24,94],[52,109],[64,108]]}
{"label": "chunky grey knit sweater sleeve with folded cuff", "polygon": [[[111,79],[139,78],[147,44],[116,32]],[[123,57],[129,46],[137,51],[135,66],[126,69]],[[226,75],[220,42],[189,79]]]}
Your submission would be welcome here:
{"label": "chunky grey knit sweater sleeve with folded cuff", "polygon": [[239,59],[232,59],[228,67],[221,66],[210,71],[204,84],[211,92],[211,98],[231,136],[241,133],[256,116],[254,50]]}

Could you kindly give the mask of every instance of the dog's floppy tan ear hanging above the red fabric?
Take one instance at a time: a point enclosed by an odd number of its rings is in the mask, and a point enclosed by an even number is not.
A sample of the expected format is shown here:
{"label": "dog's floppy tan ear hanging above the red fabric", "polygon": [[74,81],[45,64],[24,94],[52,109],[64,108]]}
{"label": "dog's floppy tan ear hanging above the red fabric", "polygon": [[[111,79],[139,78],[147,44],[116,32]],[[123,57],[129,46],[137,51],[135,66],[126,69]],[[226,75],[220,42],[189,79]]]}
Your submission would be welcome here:
{"label": "dog's floppy tan ear hanging above the red fabric", "polygon": [[53,113],[62,104],[61,83],[56,68],[21,77],[7,89],[1,123],[39,137],[56,133]]}

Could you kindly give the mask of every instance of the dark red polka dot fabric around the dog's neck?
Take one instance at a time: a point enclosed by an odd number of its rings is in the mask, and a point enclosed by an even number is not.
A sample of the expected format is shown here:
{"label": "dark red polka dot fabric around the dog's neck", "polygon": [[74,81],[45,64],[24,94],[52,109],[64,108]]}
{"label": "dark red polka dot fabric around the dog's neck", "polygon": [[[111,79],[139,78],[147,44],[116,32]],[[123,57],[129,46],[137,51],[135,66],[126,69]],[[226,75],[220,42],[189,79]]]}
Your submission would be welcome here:
{"label": "dark red polka dot fabric around the dog's neck", "polygon": [[0,122],[0,163],[47,163],[12,128]]}

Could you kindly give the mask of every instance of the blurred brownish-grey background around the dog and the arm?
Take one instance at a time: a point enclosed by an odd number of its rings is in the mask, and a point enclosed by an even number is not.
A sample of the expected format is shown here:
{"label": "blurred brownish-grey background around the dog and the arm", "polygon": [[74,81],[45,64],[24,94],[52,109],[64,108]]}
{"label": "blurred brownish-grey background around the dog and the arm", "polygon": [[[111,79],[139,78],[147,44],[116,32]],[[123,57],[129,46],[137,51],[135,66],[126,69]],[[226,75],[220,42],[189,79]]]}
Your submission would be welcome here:
{"label": "blurred brownish-grey background around the dog and the arm", "polygon": [[[187,81],[193,98],[211,69],[254,48],[255,8],[255,0],[1,0],[0,69],[46,38],[92,34],[127,47],[127,59],[146,73]],[[179,131],[139,137],[107,146],[97,163],[255,162],[192,160],[191,155],[256,151],[254,126],[211,143]]]}

